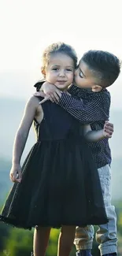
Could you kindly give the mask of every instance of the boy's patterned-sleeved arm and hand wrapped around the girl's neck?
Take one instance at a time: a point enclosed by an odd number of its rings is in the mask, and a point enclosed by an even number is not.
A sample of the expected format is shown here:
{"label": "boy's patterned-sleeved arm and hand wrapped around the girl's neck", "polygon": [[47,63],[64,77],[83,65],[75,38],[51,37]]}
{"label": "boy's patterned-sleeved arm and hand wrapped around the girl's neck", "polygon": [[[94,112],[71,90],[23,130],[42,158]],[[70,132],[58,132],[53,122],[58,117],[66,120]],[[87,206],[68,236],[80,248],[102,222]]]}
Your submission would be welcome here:
{"label": "boy's patterned-sleeved arm and hand wrapped around the girl's neck", "polygon": [[[94,92],[94,98],[91,102],[84,104],[82,101],[83,92],[76,86],[72,86],[68,91],[77,98],[73,98],[67,92],[61,93],[61,91],[51,83],[43,83],[43,91],[46,98],[43,99],[45,102],[50,99],[52,102],[57,102],[59,106],[68,111],[82,124],[91,124],[98,121],[109,120],[109,107],[110,107],[110,94],[109,91]],[[41,94],[41,92],[40,92]],[[35,96],[38,94],[35,94]],[[92,95],[91,95],[92,97]]]}

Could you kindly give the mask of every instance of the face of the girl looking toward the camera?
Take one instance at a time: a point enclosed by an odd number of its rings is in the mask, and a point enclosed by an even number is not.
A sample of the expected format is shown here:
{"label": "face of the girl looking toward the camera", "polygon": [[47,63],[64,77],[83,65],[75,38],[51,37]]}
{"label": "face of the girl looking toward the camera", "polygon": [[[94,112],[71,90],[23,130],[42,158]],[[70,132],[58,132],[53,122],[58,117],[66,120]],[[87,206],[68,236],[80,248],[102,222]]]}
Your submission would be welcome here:
{"label": "face of the girl looking toward the camera", "polygon": [[66,54],[52,54],[44,72],[47,82],[65,91],[73,81],[74,61]]}

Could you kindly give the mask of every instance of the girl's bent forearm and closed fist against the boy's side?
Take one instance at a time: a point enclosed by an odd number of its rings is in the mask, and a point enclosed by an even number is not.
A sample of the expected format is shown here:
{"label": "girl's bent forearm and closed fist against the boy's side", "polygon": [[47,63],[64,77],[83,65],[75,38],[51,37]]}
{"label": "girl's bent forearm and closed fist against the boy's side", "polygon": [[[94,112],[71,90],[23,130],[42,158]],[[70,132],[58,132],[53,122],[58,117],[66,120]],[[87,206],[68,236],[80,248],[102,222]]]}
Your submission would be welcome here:
{"label": "girl's bent forearm and closed fist against the boy's side", "polygon": [[89,142],[97,142],[98,140],[105,138],[112,138],[113,135],[113,124],[105,121],[104,128],[99,131],[91,130],[91,125],[84,125],[84,135]]}

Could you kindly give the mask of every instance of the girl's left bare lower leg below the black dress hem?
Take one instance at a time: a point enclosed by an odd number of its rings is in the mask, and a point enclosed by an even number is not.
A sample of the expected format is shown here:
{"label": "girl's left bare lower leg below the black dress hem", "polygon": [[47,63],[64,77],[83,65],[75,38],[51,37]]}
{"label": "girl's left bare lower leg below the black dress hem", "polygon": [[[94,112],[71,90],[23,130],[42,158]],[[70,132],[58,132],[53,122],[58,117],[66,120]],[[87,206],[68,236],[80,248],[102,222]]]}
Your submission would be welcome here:
{"label": "girl's left bare lower leg below the black dress hem", "polygon": [[44,256],[50,237],[49,227],[36,227],[34,232],[33,251],[34,256]]}

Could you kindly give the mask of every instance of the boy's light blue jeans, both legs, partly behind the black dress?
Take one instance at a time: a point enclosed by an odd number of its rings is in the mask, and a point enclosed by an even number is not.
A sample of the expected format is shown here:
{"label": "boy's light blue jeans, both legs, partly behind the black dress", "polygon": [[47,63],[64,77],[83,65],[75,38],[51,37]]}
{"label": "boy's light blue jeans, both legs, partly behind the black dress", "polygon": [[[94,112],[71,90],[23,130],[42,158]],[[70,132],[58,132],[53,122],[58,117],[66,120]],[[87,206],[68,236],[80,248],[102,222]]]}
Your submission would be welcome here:
{"label": "boy's light blue jeans, both legs, partly behind the black dress", "polygon": [[[96,232],[96,240],[99,243],[98,248],[101,255],[117,253],[116,212],[115,207],[111,205],[111,169],[109,165],[98,169],[98,174],[109,222],[99,225],[98,231]],[[94,227],[92,225],[85,228],[76,227],[76,238],[74,241],[76,250],[92,249],[93,239]]]}

